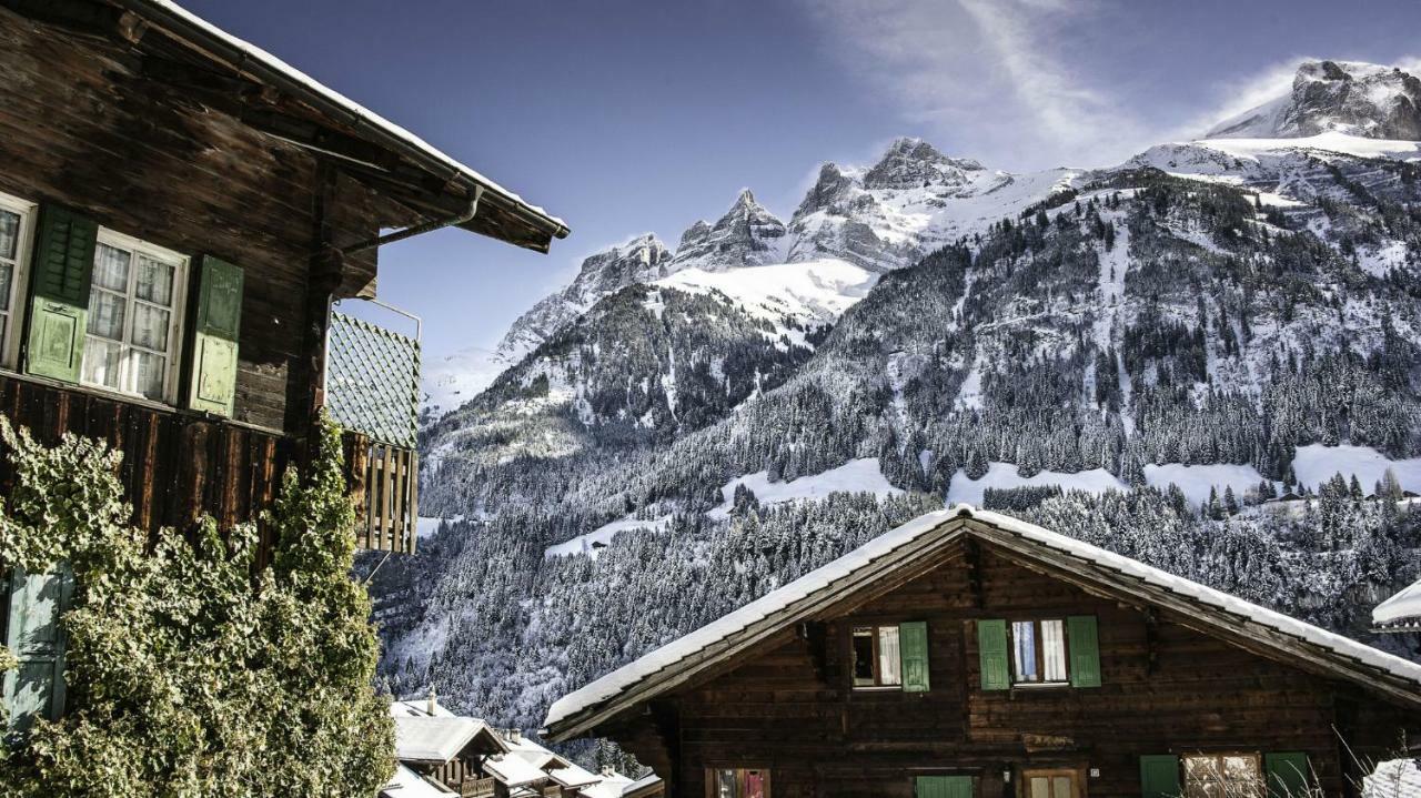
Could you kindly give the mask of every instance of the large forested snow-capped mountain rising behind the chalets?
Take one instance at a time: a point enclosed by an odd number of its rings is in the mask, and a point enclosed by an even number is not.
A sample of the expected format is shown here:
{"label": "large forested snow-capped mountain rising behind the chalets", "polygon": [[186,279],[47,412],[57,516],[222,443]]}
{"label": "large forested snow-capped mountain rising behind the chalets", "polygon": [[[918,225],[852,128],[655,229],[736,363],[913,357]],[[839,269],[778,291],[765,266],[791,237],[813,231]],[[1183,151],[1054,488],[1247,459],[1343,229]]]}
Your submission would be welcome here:
{"label": "large forested snow-capped mountain rising behind the chalets", "polygon": [[902,139],[558,294],[425,430],[421,507],[468,521],[378,575],[384,674],[531,724],[944,497],[1366,635],[1421,576],[1366,498],[1421,490],[1421,142],[1357,135],[1391,108],[1034,175]]}

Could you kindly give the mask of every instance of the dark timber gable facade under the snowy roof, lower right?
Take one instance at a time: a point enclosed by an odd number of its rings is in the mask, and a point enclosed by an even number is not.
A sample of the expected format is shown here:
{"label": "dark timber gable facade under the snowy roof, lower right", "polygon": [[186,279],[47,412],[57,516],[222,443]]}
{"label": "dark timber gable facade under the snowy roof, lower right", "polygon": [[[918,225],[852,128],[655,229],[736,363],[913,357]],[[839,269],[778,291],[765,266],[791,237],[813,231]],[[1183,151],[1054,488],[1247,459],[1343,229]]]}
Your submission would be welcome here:
{"label": "dark timber gable facade under the snowy roof, lower right", "polygon": [[[706,653],[699,674],[657,673],[648,680],[665,689],[611,709],[593,731],[664,775],[668,794],[695,798],[1165,795],[1151,792],[1160,775],[1192,795],[1205,792],[1189,791],[1181,761],[1208,754],[1252,757],[1265,780],[1277,763],[1306,763],[1320,794],[1354,795],[1363,763],[1421,734],[1421,684],[1380,694],[1280,655],[1242,619],[1218,633],[1201,613],[1023,551],[968,528],[796,622],[766,621],[746,650]],[[989,689],[983,628],[1069,618],[1093,619],[1098,686]],[[853,630],[904,622],[926,626],[925,689],[855,689]],[[556,723],[553,737],[570,728]],[[718,791],[720,771],[759,771],[767,787]]]}

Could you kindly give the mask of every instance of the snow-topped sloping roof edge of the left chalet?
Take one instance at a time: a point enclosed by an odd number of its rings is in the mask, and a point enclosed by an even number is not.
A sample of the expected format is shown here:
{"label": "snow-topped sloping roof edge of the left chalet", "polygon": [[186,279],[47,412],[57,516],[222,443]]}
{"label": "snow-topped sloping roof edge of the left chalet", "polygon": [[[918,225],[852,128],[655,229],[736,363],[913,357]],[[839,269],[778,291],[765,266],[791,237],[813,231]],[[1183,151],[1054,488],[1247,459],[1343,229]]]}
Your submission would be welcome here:
{"label": "snow-topped sloping roof edge of the left chalet", "polygon": [[[203,41],[203,44],[207,45],[205,50],[216,50],[220,47],[232,51],[236,55],[242,71],[252,74],[266,71],[283,78],[286,82],[298,88],[311,98],[324,101],[324,104],[333,106],[333,109],[342,116],[342,122],[348,126],[369,129],[381,138],[388,139],[392,145],[399,146],[402,151],[421,156],[422,160],[438,168],[445,180],[462,177],[482,186],[485,192],[490,192],[503,203],[510,204],[512,210],[524,217],[526,223],[537,223],[546,227],[549,234],[553,237],[561,239],[567,236],[568,227],[561,219],[551,216],[541,207],[526,202],[519,195],[504,189],[489,177],[485,177],[475,169],[445,155],[405,128],[321,84],[315,78],[311,78],[306,72],[291,67],[286,61],[281,61],[260,47],[213,26],[192,11],[178,6],[172,0],[119,0],[119,3],[136,11],[142,17],[151,20],[156,18],[161,23],[166,23],[165,27],[180,27],[186,33],[200,35],[206,40]],[[485,199],[487,199],[487,196],[485,196]]]}

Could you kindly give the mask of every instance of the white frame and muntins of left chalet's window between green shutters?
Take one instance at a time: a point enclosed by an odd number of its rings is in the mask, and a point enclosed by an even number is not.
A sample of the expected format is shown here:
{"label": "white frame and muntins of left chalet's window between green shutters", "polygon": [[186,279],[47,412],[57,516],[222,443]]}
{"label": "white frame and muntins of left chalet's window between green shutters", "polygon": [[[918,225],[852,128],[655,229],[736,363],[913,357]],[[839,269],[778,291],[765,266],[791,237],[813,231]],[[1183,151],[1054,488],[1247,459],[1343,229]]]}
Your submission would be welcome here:
{"label": "white frame and muntins of left chalet's window between green shutters", "polygon": [[[182,254],[166,247],[161,247],[151,241],[145,241],[135,236],[126,233],[119,233],[118,230],[99,226],[98,240],[94,247],[95,267],[98,264],[99,246],[107,246],[111,248],[126,251],[131,256],[128,268],[128,284],[122,294],[124,297],[124,329],[122,339],[118,341],[119,345],[119,385],[118,388],[104,385],[101,382],[90,382],[85,375],[85,365],[88,362],[90,341],[92,338],[99,338],[105,342],[114,342],[112,338],[105,338],[102,335],[94,335],[88,331],[88,325],[84,328],[84,359],[80,365],[80,385],[92,390],[102,390],[105,393],[114,393],[125,399],[134,399],[139,402],[158,402],[161,405],[176,406],[178,405],[178,379],[182,373],[182,358],[183,358],[183,334],[186,331],[186,317],[188,317],[188,290],[189,290],[189,275],[192,273],[192,257]],[[173,267],[172,278],[172,302],[163,308],[156,302],[138,298],[138,257],[146,256],[149,260],[156,260]],[[112,288],[97,285],[94,281],[90,284],[90,300],[92,304],[94,291],[105,291],[109,294],[118,294]],[[148,346],[141,346],[132,342],[134,319],[136,314],[134,308],[138,304],[156,307],[168,311],[168,349],[162,352],[166,358],[166,366],[163,369],[163,388],[162,396],[153,399],[145,396],[144,393],[134,390],[134,375],[132,375],[132,352],[148,352],[159,354],[158,349],[151,349]],[[91,310],[92,312],[92,310]]]}

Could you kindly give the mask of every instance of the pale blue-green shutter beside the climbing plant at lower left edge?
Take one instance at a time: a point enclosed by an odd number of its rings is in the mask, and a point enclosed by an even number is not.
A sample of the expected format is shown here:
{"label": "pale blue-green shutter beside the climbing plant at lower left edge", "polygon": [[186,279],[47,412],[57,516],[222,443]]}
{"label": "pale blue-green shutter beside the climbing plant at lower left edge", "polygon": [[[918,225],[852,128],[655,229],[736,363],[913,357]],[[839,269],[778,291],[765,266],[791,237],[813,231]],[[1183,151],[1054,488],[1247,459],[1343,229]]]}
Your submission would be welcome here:
{"label": "pale blue-green shutter beside the climbing plant at lower left edge", "polygon": [[26,731],[36,717],[55,720],[64,711],[64,628],[74,576],[67,567],[47,574],[16,568],[9,576],[10,618],[6,646],[20,662],[4,674],[10,728]]}

